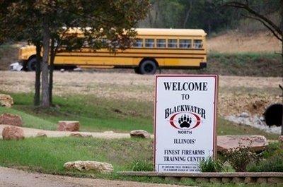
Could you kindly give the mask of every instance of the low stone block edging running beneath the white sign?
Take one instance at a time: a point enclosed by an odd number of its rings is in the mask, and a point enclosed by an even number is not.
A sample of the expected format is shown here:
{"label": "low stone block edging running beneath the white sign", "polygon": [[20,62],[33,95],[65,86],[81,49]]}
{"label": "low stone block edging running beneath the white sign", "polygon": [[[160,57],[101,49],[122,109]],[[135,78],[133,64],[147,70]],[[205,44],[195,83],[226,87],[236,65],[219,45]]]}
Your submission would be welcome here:
{"label": "low stone block edging running beneath the white sign", "polygon": [[149,176],[197,183],[280,183],[283,185],[283,172],[223,172],[223,173],[160,173],[156,171],[118,171],[122,176]]}

